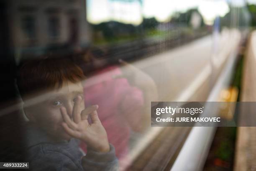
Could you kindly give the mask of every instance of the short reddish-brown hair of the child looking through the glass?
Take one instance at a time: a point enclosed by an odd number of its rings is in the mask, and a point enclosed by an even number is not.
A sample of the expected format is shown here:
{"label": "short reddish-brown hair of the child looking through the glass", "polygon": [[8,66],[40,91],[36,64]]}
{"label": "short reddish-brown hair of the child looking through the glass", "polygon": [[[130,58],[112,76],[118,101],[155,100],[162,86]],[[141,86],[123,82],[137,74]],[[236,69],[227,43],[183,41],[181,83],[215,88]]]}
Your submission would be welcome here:
{"label": "short reddish-brown hair of the child looking through the glass", "polygon": [[82,81],[82,69],[69,58],[33,59],[24,62],[18,71],[17,85],[20,96],[46,89],[59,89],[63,82]]}

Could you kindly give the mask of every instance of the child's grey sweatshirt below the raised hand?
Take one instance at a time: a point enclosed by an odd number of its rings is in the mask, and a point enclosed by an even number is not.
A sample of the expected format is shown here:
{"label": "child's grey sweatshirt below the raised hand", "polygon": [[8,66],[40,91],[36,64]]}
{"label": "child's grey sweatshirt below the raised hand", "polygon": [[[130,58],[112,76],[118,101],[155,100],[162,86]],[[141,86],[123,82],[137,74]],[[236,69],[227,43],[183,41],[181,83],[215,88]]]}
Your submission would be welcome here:
{"label": "child's grey sweatshirt below the raised hand", "polygon": [[88,150],[86,156],[79,140],[56,141],[36,126],[27,125],[27,160],[32,171],[118,171],[115,148],[108,153]]}

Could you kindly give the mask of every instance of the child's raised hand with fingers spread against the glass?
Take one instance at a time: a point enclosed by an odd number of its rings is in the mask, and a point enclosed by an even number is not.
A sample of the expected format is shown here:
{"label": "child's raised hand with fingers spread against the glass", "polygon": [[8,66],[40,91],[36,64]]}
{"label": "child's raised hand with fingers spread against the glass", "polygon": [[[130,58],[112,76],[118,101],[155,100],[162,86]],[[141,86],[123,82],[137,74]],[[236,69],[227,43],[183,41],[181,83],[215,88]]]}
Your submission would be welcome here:
{"label": "child's raised hand with fingers spread against the glass", "polygon": [[[73,107],[73,120],[67,114],[65,107],[61,107],[61,114],[64,120],[62,126],[70,136],[78,138],[85,143],[88,147],[98,152],[108,152],[110,146],[108,143],[107,133],[102,126],[97,114],[97,105],[90,106],[82,110],[80,113],[80,103],[82,97],[78,96]],[[92,120],[92,124],[88,123],[88,115]]]}

